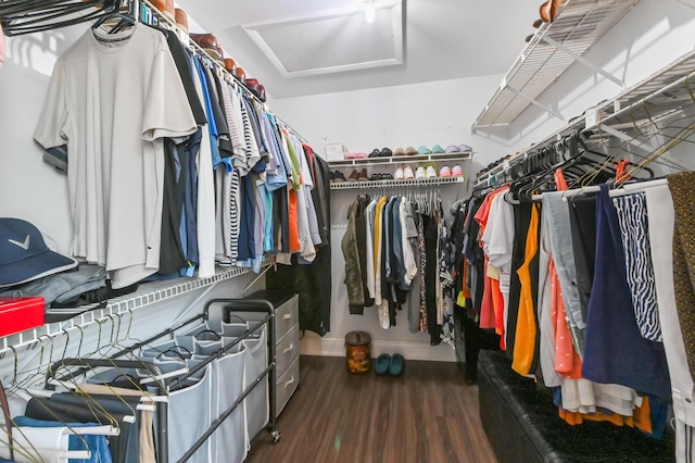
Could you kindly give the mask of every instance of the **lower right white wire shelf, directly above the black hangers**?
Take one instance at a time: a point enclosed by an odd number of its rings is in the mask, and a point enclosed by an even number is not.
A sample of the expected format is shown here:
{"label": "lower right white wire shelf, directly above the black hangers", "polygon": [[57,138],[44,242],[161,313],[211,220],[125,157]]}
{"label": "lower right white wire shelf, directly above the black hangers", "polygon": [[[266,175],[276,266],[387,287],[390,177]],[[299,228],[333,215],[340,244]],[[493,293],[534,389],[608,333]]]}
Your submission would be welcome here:
{"label": "lower right white wire shelf, directly above the black hangers", "polygon": [[[591,132],[598,132],[606,127],[636,128],[693,104],[695,104],[695,51],[684,54],[615,99],[603,101],[586,110],[581,116],[573,117],[566,126],[545,137],[527,152],[510,158],[476,179],[475,187],[490,185],[490,178],[494,175],[508,172],[509,167],[528,155],[578,130],[589,135]],[[605,135],[610,136],[610,134]]]}

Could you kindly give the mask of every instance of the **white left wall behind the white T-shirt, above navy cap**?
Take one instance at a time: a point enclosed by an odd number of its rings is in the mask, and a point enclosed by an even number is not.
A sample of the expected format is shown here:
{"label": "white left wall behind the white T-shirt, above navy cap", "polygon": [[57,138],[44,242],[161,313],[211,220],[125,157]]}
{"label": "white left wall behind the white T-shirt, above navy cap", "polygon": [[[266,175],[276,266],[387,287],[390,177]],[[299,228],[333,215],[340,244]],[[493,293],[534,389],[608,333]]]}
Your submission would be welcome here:
{"label": "white left wall behind the white T-shirt, above navy cap", "polygon": [[72,239],[67,182],[41,160],[34,129],[55,60],[85,29],[8,37],[0,68],[0,216],[31,222],[63,253],[70,253]]}

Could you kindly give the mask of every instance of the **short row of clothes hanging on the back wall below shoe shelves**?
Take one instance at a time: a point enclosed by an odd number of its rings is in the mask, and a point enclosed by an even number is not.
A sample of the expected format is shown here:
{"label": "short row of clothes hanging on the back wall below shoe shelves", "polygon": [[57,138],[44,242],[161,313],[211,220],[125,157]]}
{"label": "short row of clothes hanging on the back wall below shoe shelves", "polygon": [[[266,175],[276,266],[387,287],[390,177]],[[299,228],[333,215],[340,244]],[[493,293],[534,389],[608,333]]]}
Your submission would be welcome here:
{"label": "short row of clothes hanging on the back wall below shoe shelves", "polygon": [[342,239],[345,285],[352,314],[376,306],[379,326],[396,324],[407,308],[413,333],[430,342],[453,339],[451,250],[439,196],[358,196],[349,208]]}

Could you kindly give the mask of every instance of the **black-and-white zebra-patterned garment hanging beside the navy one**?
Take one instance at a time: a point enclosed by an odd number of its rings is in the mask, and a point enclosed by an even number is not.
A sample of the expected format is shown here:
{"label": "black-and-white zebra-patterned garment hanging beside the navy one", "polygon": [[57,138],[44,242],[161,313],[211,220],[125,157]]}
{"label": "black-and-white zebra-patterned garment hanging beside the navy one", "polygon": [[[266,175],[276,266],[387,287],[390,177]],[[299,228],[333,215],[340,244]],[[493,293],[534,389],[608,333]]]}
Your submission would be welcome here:
{"label": "black-and-white zebra-patterned garment hanging beside the navy one", "polygon": [[614,198],[612,202],[618,212],[628,285],[640,333],[645,339],[660,342],[661,324],[649,249],[646,198],[644,193],[635,193]]}

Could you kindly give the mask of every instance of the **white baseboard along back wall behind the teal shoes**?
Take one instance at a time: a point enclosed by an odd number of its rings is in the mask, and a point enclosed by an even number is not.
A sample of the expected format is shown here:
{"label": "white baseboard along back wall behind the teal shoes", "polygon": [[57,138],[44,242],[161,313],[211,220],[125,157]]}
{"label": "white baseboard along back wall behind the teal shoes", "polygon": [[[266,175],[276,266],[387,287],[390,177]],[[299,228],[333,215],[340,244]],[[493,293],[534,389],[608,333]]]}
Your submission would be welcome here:
{"label": "white baseboard along back wall behind the teal shoes", "polygon": [[[311,337],[302,339],[300,353],[303,355],[345,356],[345,342],[342,339],[321,339]],[[371,356],[382,353],[400,353],[406,360],[426,360],[434,362],[455,362],[454,349],[442,342],[430,346],[424,342],[371,341]]]}

